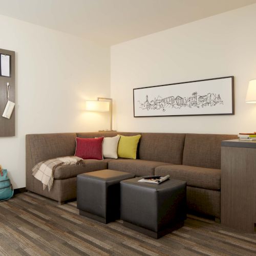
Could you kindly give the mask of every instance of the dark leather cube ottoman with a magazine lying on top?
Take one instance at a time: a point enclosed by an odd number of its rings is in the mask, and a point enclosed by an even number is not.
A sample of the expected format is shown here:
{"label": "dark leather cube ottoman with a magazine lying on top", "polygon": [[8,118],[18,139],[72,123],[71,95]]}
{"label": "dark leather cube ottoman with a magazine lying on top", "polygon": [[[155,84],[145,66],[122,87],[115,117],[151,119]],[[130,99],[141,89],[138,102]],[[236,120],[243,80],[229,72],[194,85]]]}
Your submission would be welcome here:
{"label": "dark leather cube ottoman with a magazine lying on top", "polygon": [[186,219],[186,182],[170,179],[161,184],[121,181],[123,225],[160,238],[180,228]]}

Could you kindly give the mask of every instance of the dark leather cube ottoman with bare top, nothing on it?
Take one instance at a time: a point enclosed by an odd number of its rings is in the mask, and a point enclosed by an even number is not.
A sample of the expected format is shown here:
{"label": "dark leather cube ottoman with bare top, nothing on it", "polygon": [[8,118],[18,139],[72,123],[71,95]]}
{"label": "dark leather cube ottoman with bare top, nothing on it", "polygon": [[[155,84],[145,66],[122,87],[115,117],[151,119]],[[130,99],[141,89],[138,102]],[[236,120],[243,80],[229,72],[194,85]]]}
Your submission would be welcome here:
{"label": "dark leather cube ottoman with bare top, nothing on it", "polygon": [[120,181],[133,177],[111,169],[77,175],[79,214],[105,224],[119,219]]}

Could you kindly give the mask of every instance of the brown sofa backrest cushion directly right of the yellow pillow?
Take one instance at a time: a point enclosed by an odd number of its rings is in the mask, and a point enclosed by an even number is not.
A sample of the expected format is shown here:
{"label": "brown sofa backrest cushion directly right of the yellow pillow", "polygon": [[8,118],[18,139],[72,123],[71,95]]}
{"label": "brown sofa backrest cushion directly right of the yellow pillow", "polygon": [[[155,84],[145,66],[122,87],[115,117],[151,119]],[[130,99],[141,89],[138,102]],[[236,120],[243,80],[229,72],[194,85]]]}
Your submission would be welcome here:
{"label": "brown sofa backrest cushion directly right of the yellow pillow", "polygon": [[142,133],[139,158],[165,163],[182,164],[185,134]]}

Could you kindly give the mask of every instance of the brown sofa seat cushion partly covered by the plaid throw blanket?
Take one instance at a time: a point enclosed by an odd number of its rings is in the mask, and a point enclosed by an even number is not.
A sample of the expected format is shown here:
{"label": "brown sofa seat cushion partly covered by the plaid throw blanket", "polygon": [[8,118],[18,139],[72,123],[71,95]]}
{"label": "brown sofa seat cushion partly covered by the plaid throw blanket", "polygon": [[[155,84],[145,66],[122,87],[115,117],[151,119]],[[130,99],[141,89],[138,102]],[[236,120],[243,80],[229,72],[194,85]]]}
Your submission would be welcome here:
{"label": "brown sofa seat cushion partly covered by the plaid throw blanket", "polygon": [[54,179],[63,180],[76,177],[78,174],[93,172],[108,168],[107,160],[83,160],[80,165],[60,165],[54,171]]}

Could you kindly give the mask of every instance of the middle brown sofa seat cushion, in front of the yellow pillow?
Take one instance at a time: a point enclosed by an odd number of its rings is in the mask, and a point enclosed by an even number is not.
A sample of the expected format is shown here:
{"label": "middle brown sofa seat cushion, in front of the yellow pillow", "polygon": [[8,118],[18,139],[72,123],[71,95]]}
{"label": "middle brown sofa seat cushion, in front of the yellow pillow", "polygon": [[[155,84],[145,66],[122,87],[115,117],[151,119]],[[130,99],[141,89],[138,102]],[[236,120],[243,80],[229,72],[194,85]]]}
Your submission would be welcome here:
{"label": "middle brown sofa seat cushion, in front of the yellow pillow", "polygon": [[140,159],[116,159],[109,162],[109,169],[133,173],[136,176],[154,175],[154,170],[160,165],[170,165],[164,162],[147,161]]}

